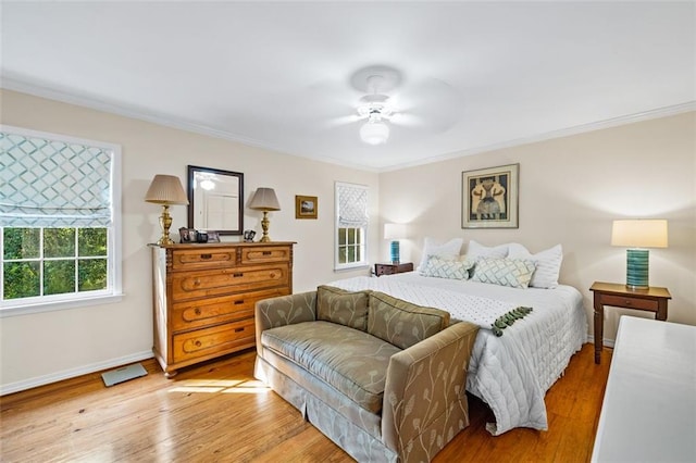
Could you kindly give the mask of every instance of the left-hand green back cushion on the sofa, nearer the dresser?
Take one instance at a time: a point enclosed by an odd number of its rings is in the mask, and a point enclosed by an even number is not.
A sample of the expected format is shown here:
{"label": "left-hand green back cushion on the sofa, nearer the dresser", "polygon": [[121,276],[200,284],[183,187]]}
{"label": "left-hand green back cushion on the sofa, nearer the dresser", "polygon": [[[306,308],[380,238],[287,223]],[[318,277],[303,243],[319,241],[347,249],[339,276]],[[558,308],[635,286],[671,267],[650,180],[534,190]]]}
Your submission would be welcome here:
{"label": "left-hand green back cushion on the sofa, nearer the dresser", "polygon": [[316,288],[316,318],[364,331],[368,328],[370,292],[351,292],[333,286],[320,286]]}

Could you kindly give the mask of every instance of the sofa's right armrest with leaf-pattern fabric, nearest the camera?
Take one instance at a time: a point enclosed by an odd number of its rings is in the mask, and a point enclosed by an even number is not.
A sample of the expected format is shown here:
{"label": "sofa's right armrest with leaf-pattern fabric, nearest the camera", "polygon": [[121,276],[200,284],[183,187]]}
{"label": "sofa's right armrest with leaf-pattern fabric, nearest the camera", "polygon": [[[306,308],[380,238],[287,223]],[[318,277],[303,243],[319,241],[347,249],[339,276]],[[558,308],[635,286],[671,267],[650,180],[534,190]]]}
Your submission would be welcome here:
{"label": "sofa's right armrest with leaf-pattern fabric, nearest the camera", "polygon": [[460,322],[389,360],[382,439],[403,461],[430,461],[469,424],[467,370],[477,333]]}

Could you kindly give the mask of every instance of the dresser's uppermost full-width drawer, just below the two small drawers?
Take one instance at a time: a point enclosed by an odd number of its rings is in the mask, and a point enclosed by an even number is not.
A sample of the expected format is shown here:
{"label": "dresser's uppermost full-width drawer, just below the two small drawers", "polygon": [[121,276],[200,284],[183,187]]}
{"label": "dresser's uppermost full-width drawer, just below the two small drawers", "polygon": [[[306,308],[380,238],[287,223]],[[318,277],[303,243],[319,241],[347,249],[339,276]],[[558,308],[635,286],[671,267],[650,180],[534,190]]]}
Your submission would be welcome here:
{"label": "dresser's uppermost full-width drawer, just below the two small drawers", "polygon": [[281,286],[289,286],[287,263],[177,273],[172,276],[172,298],[174,302],[179,302],[186,299],[224,296]]}

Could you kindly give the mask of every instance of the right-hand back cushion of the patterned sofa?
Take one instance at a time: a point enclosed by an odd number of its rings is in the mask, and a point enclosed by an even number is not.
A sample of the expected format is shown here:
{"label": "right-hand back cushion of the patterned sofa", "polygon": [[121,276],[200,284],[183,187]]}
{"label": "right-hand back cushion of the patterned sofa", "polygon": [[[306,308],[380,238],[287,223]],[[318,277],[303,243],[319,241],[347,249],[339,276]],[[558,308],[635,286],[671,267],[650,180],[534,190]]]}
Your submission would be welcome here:
{"label": "right-hand back cushion of the patterned sofa", "polygon": [[415,305],[384,292],[370,293],[368,333],[408,349],[449,326],[449,312]]}

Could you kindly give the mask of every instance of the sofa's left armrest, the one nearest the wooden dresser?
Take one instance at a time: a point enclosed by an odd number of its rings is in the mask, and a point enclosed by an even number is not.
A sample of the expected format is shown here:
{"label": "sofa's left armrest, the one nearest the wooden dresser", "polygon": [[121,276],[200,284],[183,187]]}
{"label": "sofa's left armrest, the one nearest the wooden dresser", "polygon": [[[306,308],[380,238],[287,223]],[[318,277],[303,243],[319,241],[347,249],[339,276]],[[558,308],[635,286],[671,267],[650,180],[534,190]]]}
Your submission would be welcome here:
{"label": "sofa's left armrest, the one nearest the wooden dresser", "polygon": [[257,352],[261,355],[261,333],[277,326],[316,320],[316,291],[263,299],[256,303]]}

